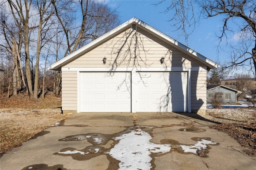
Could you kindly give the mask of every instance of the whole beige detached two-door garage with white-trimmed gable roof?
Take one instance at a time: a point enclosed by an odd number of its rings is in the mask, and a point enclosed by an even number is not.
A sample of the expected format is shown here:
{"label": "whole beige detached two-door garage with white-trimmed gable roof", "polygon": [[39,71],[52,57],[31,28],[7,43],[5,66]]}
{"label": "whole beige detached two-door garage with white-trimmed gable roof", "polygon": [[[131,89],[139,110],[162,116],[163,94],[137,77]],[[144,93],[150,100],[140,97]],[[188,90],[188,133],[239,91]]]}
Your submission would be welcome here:
{"label": "whole beige detached two-door garage with white-trimmed gable roof", "polygon": [[205,112],[218,64],[137,18],[52,64],[63,112]]}

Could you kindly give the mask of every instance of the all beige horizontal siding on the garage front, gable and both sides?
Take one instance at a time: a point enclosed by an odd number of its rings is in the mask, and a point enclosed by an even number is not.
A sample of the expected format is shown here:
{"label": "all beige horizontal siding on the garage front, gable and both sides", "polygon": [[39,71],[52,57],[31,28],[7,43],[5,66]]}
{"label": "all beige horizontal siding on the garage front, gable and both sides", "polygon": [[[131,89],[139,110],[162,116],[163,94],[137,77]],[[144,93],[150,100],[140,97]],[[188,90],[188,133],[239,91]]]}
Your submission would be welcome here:
{"label": "all beige horizontal siding on the garage front, gable and both sides", "polygon": [[[106,57],[104,65],[102,59]],[[164,57],[164,64],[160,64]],[[64,68],[94,67],[205,67],[162,39],[137,26],[137,31],[126,31],[106,39],[85,54],[81,54]],[[198,69],[200,70],[200,69]],[[206,70],[191,71],[191,109],[206,110]],[[77,72],[62,71],[62,109],[77,110]]]}

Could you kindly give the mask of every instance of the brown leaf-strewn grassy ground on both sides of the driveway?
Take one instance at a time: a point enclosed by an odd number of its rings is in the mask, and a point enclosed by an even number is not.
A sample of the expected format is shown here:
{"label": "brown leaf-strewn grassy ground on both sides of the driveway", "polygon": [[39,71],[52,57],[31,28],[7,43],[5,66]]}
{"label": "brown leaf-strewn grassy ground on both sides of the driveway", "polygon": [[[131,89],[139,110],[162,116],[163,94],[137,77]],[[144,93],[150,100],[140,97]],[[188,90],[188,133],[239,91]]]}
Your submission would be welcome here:
{"label": "brown leaf-strewn grassy ground on both sides of the driveway", "polygon": [[[44,129],[54,126],[68,116],[61,114],[61,99],[53,94],[33,101],[26,95],[6,98],[0,95],[0,153],[19,147]],[[238,121],[212,126],[236,139],[250,155],[256,155],[256,108],[211,109],[209,115]]]}

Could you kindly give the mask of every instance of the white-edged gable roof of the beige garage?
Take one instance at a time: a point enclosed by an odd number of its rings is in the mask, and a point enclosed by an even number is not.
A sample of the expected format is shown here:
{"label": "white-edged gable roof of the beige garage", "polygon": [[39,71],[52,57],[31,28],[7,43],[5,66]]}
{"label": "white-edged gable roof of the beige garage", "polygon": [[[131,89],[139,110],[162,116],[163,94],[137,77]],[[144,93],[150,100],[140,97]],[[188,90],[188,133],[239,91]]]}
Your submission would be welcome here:
{"label": "white-edged gable roof of the beige garage", "polygon": [[118,33],[124,31],[128,27],[131,27],[132,24],[139,25],[140,27],[146,29],[146,31],[152,33],[156,37],[166,41],[170,45],[172,45],[172,46],[176,47],[177,49],[183,51],[184,53],[188,54],[189,56],[193,57],[194,59],[197,59],[198,61],[201,61],[202,63],[206,64],[207,69],[208,68],[218,68],[219,67],[219,65],[217,63],[215,63],[214,61],[211,61],[210,59],[207,59],[203,55],[201,55],[201,54],[197,53],[196,51],[186,47],[182,43],[179,43],[178,41],[172,39],[168,35],[165,35],[164,33],[161,33],[160,31],[154,29],[150,25],[148,25],[148,24],[144,23],[143,21],[134,17],[131,20],[126,21],[125,23],[123,23],[123,24],[119,25],[118,27],[112,29],[108,33],[105,33],[104,35],[95,39],[94,41],[88,43],[84,47],[76,50],[75,52],[71,53],[70,55],[60,59],[56,63],[51,64],[50,68],[48,68],[48,69],[50,69],[50,70],[59,70],[60,71],[62,66],[66,65],[70,61],[76,59],[76,57],[78,57],[79,54],[86,53],[86,51],[90,51],[94,47],[97,47],[98,45],[100,45],[101,43],[106,41],[106,39],[108,39],[108,38],[110,38],[114,35],[117,35]]}

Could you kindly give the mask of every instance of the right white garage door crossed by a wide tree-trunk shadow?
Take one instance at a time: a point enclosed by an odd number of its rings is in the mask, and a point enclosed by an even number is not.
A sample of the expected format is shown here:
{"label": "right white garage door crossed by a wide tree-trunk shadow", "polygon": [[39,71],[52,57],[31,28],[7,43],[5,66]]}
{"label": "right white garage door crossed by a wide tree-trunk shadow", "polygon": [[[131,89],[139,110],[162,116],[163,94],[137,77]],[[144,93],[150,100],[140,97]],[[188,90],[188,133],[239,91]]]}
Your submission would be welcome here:
{"label": "right white garage door crossed by a wide tree-trunk shadow", "polygon": [[137,81],[137,111],[188,111],[186,72],[137,72]]}

